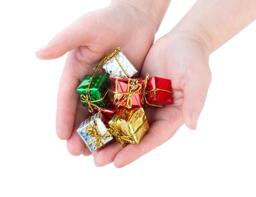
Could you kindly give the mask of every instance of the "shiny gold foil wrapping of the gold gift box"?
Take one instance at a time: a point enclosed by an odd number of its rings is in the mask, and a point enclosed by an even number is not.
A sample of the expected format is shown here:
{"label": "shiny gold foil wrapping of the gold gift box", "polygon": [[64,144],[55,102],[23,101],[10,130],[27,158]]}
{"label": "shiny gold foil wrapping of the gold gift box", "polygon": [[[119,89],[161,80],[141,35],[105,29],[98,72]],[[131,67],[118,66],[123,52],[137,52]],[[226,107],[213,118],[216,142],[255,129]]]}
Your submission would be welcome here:
{"label": "shiny gold foil wrapping of the gold gift box", "polygon": [[[141,107],[131,109],[120,107],[108,125],[111,129],[118,130],[121,137],[128,137],[125,143],[132,144],[138,144],[150,128],[145,112]],[[134,133],[136,135],[133,135]],[[117,141],[119,140],[117,139]]]}

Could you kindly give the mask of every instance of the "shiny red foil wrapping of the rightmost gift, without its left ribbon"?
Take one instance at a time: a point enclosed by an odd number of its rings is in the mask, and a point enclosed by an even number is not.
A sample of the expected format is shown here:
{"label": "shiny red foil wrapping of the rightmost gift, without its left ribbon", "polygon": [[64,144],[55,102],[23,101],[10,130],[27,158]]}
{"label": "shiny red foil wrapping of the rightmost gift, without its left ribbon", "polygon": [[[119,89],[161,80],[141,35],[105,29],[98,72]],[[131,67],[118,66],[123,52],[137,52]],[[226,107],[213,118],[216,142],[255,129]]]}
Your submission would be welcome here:
{"label": "shiny red foil wrapping of the rightmost gift, without its left ribbon", "polygon": [[[149,78],[146,90],[150,91],[156,88],[172,91],[171,80],[155,76]],[[167,104],[172,104],[172,94],[163,92],[161,90],[155,90],[152,91],[152,94],[146,95],[146,100],[150,104],[162,104],[163,106],[165,106]],[[145,106],[147,106],[147,104],[145,104]]]}

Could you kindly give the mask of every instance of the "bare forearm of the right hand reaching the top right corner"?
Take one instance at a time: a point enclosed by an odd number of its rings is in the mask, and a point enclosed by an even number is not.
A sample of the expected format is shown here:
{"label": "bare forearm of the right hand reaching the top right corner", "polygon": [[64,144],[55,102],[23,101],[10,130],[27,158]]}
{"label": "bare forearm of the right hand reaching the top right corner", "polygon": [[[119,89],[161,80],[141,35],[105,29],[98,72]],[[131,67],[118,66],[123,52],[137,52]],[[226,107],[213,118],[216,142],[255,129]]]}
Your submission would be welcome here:
{"label": "bare forearm of the right hand reaching the top right corner", "polygon": [[256,0],[198,0],[174,32],[191,32],[213,52],[255,19]]}

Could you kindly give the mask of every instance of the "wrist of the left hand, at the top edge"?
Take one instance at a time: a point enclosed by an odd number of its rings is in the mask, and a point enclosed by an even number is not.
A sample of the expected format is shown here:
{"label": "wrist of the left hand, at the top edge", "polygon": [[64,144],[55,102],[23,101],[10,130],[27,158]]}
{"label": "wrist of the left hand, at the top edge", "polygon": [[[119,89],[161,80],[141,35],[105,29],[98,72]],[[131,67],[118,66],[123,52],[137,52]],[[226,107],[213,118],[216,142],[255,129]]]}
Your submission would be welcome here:
{"label": "wrist of the left hand, at the top edge", "polygon": [[170,2],[171,0],[112,0],[111,4],[135,9],[156,33]]}

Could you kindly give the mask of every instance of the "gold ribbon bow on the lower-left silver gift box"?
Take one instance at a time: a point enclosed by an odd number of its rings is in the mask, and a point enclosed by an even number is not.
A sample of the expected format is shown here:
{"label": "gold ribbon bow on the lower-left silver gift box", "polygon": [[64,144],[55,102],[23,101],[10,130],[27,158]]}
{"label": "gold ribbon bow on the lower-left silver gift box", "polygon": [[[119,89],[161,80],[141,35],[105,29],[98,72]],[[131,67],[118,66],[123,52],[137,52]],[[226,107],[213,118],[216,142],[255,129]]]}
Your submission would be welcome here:
{"label": "gold ribbon bow on the lower-left silver gift box", "polygon": [[93,120],[94,121],[94,127],[92,127],[92,125],[90,124],[90,120],[91,120],[91,116],[88,119],[88,124],[89,127],[87,128],[86,132],[90,134],[91,137],[95,137],[96,139],[94,139],[92,142],[90,142],[89,144],[87,144],[86,146],[90,146],[92,145],[94,142],[96,142],[96,149],[100,148],[100,145],[102,144],[102,146],[104,146],[105,144],[102,142],[102,139],[109,139],[111,138],[111,134],[107,134],[109,132],[109,130],[106,130],[105,133],[103,133],[102,135],[99,134],[99,129],[98,129],[98,124],[97,124],[97,120]]}

